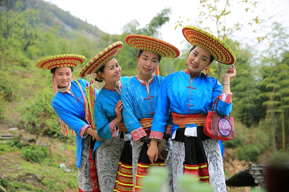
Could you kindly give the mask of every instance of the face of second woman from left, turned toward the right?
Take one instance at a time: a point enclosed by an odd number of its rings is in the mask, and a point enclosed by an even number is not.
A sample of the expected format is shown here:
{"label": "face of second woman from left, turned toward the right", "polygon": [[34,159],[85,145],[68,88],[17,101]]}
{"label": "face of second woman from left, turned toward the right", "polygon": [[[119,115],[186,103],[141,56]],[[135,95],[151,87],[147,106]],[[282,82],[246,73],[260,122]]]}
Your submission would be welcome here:
{"label": "face of second woman from left, turned toward the right", "polygon": [[121,79],[121,67],[116,59],[112,59],[105,63],[103,73],[99,72],[99,75],[106,83],[119,81]]}

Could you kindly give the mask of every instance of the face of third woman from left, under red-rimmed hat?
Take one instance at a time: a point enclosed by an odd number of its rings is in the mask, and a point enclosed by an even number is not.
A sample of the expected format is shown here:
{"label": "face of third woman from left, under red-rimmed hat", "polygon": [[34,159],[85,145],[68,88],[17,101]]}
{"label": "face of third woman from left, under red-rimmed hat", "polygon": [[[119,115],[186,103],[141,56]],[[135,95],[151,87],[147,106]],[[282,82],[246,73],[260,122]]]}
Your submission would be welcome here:
{"label": "face of third woman from left, under red-rimmed hat", "polygon": [[138,61],[139,73],[144,75],[150,75],[158,67],[159,64],[159,55],[150,51],[143,51],[140,54],[140,57],[136,58]]}

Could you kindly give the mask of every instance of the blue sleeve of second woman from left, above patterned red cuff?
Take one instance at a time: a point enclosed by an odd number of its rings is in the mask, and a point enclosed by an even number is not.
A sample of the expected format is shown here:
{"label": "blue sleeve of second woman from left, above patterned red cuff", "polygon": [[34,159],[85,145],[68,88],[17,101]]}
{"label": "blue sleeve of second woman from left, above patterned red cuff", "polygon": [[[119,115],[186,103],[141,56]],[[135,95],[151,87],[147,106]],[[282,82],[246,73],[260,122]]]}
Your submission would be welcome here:
{"label": "blue sleeve of second woman from left, above patterned red cuff", "polygon": [[94,106],[95,125],[97,134],[101,139],[113,139],[110,131],[110,121],[105,115],[105,110],[101,101],[96,98]]}

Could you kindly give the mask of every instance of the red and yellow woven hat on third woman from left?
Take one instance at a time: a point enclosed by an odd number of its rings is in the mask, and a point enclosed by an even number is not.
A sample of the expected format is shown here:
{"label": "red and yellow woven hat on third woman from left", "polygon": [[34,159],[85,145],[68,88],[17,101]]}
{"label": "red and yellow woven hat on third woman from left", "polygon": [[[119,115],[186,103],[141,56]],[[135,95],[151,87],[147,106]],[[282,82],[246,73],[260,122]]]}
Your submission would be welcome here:
{"label": "red and yellow woven hat on third woman from left", "polygon": [[147,35],[131,34],[125,37],[125,41],[137,50],[146,50],[160,55],[161,57],[179,57],[179,50],[163,40]]}

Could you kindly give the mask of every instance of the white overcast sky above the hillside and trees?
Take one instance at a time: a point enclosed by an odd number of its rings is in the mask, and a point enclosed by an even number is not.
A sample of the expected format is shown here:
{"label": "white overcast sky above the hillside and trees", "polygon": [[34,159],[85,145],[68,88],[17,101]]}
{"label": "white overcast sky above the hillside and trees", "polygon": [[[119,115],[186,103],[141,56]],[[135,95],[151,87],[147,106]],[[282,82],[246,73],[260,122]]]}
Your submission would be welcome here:
{"label": "white overcast sky above the hillside and trees", "polygon": [[[73,16],[87,21],[92,25],[96,25],[102,31],[109,34],[121,34],[121,28],[129,21],[136,19],[140,27],[144,27],[150,20],[156,16],[165,7],[171,7],[172,15],[170,22],[166,23],[161,28],[162,40],[175,45],[177,48],[182,48],[185,43],[181,44],[185,38],[181,33],[182,27],[175,28],[175,23],[181,17],[183,20],[191,19],[184,22],[184,25],[196,24],[199,15],[198,5],[199,0],[146,0],[146,1],[131,1],[131,0],[111,0],[111,1],[92,1],[92,0],[45,0],[57,5],[62,10],[69,11]],[[257,1],[257,0],[256,0]],[[261,1],[261,0],[260,0]],[[237,1],[234,0],[234,3]],[[284,26],[289,27],[288,24],[288,0],[262,0],[255,11],[247,12],[244,10],[247,7],[241,4],[236,4],[230,7],[231,14],[227,18],[226,25],[233,25],[236,21],[247,22],[251,18],[259,16],[260,19],[273,22],[277,20],[283,23]],[[269,20],[270,16],[276,15]],[[204,22],[205,23],[205,22]],[[215,26],[214,23],[205,23],[203,27]],[[251,28],[248,26],[248,33]],[[212,32],[214,35],[216,33]],[[246,34],[251,37],[251,34]],[[124,40],[123,40],[124,41]]]}

